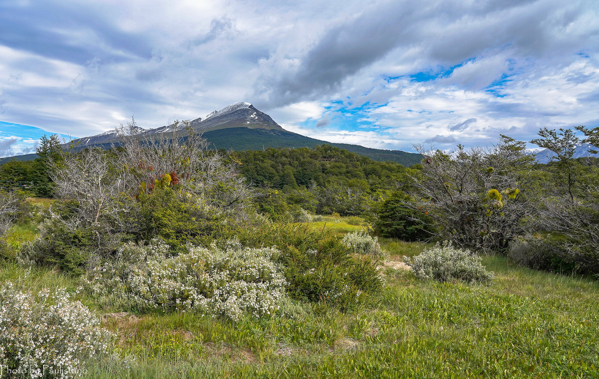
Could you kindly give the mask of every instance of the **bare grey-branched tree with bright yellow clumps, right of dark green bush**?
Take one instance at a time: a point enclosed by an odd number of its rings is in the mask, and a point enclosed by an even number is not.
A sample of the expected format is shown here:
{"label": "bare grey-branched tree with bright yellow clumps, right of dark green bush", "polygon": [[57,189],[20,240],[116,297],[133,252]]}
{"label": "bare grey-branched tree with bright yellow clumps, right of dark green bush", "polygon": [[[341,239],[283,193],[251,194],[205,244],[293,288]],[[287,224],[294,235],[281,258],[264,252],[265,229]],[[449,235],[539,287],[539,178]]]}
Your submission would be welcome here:
{"label": "bare grey-branched tree with bright yellow clumps, right of dark green bush", "polygon": [[524,142],[502,135],[491,148],[458,145],[452,154],[415,148],[425,159],[406,207],[430,216],[438,237],[497,251],[530,228],[536,207],[522,187],[532,160]]}

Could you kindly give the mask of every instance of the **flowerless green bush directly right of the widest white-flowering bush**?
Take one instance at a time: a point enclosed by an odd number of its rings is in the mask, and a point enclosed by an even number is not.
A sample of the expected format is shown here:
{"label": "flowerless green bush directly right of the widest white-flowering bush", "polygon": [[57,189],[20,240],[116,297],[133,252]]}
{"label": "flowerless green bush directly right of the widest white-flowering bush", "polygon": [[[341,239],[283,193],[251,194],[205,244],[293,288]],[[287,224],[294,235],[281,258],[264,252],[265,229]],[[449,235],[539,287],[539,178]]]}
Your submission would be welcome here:
{"label": "flowerless green bush directly right of the widest white-flowering bush", "polygon": [[281,251],[277,262],[292,299],[325,302],[345,310],[382,287],[376,261],[352,256],[341,239],[325,229],[279,223],[244,229],[240,239],[248,246],[274,246]]}

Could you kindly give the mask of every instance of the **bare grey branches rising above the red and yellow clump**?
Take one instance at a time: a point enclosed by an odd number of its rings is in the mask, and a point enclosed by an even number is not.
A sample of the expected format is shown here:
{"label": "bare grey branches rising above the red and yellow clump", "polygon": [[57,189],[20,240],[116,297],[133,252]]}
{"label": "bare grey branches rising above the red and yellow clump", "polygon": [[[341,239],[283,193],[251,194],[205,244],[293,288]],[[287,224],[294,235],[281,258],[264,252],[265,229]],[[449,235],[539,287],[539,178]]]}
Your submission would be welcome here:
{"label": "bare grey branches rising above the red and yellow clump", "polygon": [[182,196],[195,196],[210,207],[239,212],[249,207],[254,196],[235,163],[208,149],[208,142],[190,128],[176,121],[166,138],[140,135],[135,120],[122,127],[120,151],[122,189],[128,193],[150,193],[156,181],[166,175],[171,183],[180,184]]}

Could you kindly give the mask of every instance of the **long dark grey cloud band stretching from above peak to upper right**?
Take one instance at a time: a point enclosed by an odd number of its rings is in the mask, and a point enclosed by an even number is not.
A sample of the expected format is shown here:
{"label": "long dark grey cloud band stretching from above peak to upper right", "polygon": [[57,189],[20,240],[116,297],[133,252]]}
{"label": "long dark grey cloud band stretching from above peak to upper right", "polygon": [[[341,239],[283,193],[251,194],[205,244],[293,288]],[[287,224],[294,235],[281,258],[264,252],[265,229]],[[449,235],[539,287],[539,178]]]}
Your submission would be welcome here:
{"label": "long dark grey cloud band stretching from above peak to upper right", "polygon": [[491,48],[539,57],[566,53],[581,44],[597,46],[596,27],[582,32],[573,27],[585,16],[585,7],[573,4],[556,10],[559,4],[382,2],[326,32],[296,69],[269,68],[258,78],[256,95],[272,107],[332,95],[346,78],[400,47],[419,51],[418,59],[435,68],[458,65]]}

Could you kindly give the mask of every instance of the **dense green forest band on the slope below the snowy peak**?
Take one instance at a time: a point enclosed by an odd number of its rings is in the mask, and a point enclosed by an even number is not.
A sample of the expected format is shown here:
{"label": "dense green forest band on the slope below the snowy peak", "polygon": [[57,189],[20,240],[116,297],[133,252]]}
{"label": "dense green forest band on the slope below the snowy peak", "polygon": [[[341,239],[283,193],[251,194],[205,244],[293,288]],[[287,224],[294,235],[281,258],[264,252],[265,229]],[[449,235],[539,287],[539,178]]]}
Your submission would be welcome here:
{"label": "dense green forest band on the slope below the snowy peak", "polygon": [[407,184],[410,172],[331,145],[235,152],[239,170],[260,194],[264,213],[277,217],[298,208],[342,216],[371,213],[377,202]]}

